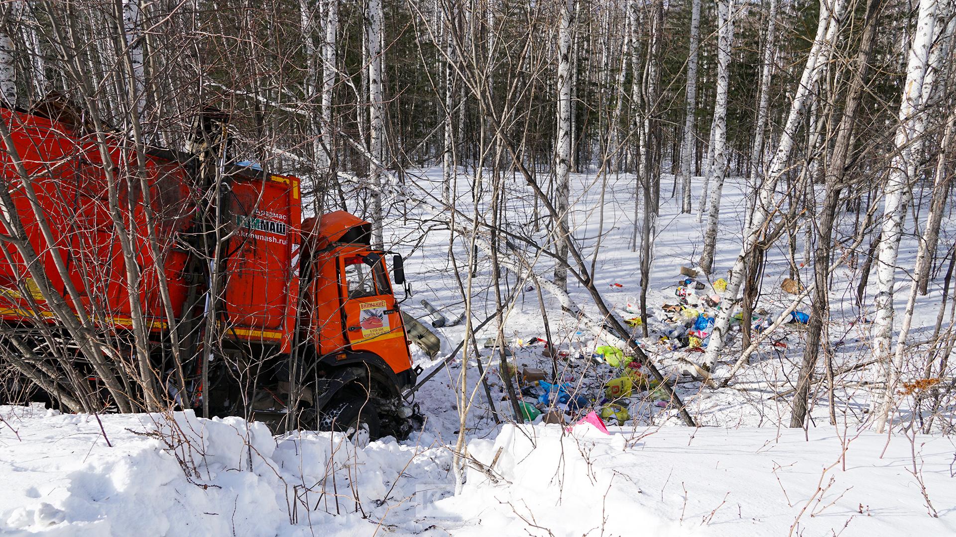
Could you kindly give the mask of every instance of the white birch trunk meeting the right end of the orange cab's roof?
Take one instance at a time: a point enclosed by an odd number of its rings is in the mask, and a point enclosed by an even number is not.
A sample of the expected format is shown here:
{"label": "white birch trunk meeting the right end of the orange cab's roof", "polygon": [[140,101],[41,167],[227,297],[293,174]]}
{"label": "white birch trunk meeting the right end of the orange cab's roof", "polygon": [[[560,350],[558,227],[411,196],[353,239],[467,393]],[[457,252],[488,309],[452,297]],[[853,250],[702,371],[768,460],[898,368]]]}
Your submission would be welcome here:
{"label": "white birch trunk meeting the right end of the orange cab's roof", "polygon": [[368,99],[369,99],[369,151],[375,157],[370,162],[372,180],[372,241],[376,247],[383,247],[382,213],[381,213],[381,166],[384,159],[384,118],[381,82],[381,0],[368,0],[366,13],[366,37],[368,48]]}

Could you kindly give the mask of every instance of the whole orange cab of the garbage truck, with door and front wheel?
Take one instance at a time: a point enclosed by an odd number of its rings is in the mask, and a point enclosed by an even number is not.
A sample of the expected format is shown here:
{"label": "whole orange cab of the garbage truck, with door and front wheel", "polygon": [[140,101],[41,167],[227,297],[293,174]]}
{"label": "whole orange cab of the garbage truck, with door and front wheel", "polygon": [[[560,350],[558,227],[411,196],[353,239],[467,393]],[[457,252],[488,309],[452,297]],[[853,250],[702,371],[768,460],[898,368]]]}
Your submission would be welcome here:
{"label": "whole orange cab of the garbage truck, with door and front wheel", "polygon": [[410,290],[402,257],[371,247],[371,234],[345,211],[303,221],[299,340],[314,353],[320,389],[367,399],[376,419],[398,423],[410,414],[401,393],[416,373],[395,287]]}

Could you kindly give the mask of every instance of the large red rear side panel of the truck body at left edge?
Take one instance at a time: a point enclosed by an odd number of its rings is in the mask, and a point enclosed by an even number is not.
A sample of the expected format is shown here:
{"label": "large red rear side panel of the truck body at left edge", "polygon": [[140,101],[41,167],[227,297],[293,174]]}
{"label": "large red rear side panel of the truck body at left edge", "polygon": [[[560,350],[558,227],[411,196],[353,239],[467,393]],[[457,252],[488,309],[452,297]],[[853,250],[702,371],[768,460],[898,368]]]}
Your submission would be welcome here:
{"label": "large red rear side panel of the truck body at left edge", "polygon": [[[185,204],[182,168],[149,157],[141,174],[132,151],[120,146],[129,142],[113,139],[108,140],[110,166],[104,166],[94,140],[76,137],[63,124],[7,109],[0,109],[0,116],[11,129],[15,148],[15,152],[9,152],[6,144],[0,143],[0,174],[54,291],[73,303],[66,285],[70,282],[81,309],[91,318],[107,326],[130,326],[130,283],[114,222],[119,218],[136,245],[141,278],[134,285],[147,322],[157,329],[165,323],[160,278],[169,287],[173,311],[179,314],[185,297],[181,276],[185,253],[172,245],[175,232],[188,226],[191,216]],[[35,206],[15,161],[22,163],[33,185]],[[114,170],[112,178],[104,168]],[[110,210],[111,194],[118,201],[118,214]],[[150,231],[143,204],[147,200],[158,239],[155,248],[147,246]],[[2,225],[0,232],[6,233]],[[11,320],[46,316],[42,297],[16,247],[7,244],[4,249],[6,255],[0,258],[0,315]],[[33,302],[38,304],[37,311],[16,289],[16,281],[24,278]],[[73,306],[76,310],[76,304]]]}

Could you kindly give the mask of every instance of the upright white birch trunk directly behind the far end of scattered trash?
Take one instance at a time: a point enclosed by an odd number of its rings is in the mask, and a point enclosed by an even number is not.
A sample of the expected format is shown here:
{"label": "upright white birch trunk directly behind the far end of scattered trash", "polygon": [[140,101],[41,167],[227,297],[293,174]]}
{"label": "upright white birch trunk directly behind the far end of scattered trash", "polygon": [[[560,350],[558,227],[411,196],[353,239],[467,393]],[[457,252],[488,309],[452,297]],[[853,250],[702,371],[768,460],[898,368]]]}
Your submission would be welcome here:
{"label": "upright white birch trunk directly behind the far end of scattered trash", "polygon": [[730,47],[733,44],[733,3],[722,0],[717,5],[717,97],[714,102],[714,157],[707,170],[711,184],[710,204],[707,212],[707,228],[704,234],[704,252],[701,254],[701,269],[709,273],[717,245],[717,226],[720,217],[720,200],[724,191],[724,176],[727,172],[727,104],[730,93]]}

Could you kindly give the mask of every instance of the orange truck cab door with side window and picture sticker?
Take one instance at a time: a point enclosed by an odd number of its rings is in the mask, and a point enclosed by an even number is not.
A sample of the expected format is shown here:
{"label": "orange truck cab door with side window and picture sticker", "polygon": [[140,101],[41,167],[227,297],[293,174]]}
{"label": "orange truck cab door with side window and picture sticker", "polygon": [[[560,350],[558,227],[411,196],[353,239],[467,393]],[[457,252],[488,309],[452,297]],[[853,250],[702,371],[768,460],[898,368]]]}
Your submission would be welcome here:
{"label": "orange truck cab door with side window and picture sticker", "polygon": [[411,367],[402,315],[388,281],[384,259],[377,253],[339,258],[345,333],[353,351],[378,354],[396,373]]}

